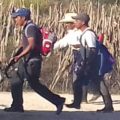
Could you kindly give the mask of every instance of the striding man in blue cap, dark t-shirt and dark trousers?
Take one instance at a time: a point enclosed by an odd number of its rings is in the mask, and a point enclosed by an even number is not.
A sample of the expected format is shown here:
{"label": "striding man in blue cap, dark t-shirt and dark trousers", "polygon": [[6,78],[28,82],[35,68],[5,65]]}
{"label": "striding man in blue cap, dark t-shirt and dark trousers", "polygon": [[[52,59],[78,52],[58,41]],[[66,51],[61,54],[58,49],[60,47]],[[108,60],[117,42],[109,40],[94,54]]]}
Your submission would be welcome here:
{"label": "striding man in blue cap, dark t-shirt and dark trousers", "polygon": [[[18,71],[11,81],[12,104],[10,108],[5,108],[6,112],[24,112],[23,109],[23,83],[27,78],[31,88],[39,95],[53,103],[57,107],[56,114],[60,114],[65,102],[65,98],[52,93],[48,88],[39,83],[41,71],[41,48],[42,35],[39,27],[37,27],[30,19],[30,10],[21,8],[12,13],[12,18],[17,26],[23,27],[22,48],[23,51],[12,58],[15,62],[19,62]],[[21,58],[24,59],[21,60]],[[16,77],[17,76],[17,77]]]}

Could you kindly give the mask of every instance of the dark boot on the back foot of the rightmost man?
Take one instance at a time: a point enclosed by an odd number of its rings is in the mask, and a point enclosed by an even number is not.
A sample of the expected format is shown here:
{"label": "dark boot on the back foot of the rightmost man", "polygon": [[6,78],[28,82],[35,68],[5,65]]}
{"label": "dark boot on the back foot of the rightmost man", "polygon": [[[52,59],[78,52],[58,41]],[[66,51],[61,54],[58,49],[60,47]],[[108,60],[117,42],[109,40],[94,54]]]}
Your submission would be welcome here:
{"label": "dark boot on the back foot of the rightmost man", "polygon": [[103,109],[97,110],[97,112],[112,112],[114,111],[113,105],[112,105],[112,99],[110,95],[103,96],[103,102],[105,104],[105,107]]}

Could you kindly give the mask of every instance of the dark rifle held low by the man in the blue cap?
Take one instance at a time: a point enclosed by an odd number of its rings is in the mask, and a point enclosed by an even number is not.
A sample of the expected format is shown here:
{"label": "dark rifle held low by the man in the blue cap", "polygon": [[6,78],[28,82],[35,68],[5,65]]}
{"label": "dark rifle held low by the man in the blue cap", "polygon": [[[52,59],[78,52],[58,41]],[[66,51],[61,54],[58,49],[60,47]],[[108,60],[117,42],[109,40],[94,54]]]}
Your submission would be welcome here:
{"label": "dark rifle held low by the man in the blue cap", "polygon": [[[13,55],[13,57],[19,55],[22,51],[23,51],[23,47],[20,47],[20,48],[17,50],[17,52]],[[14,60],[14,58],[13,58],[13,59],[8,63],[8,65],[5,67],[4,73],[5,73],[5,75],[6,75],[7,78],[11,78],[11,77],[8,75],[8,70],[9,70],[10,67],[13,66],[15,63],[16,63],[16,62],[15,62],[15,60]]]}

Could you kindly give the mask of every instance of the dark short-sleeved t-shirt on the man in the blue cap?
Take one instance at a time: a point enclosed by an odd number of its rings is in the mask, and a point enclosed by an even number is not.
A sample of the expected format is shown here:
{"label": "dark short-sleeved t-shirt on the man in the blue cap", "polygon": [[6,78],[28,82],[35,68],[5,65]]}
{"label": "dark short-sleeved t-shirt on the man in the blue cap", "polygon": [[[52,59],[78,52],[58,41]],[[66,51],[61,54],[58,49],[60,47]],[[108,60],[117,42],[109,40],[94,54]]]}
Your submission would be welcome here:
{"label": "dark short-sleeved t-shirt on the man in the blue cap", "polygon": [[41,48],[42,48],[42,33],[37,25],[28,22],[23,28],[23,36],[22,36],[22,45],[23,49],[28,46],[28,38],[34,38],[35,46],[34,48],[25,56],[26,59],[40,57]]}

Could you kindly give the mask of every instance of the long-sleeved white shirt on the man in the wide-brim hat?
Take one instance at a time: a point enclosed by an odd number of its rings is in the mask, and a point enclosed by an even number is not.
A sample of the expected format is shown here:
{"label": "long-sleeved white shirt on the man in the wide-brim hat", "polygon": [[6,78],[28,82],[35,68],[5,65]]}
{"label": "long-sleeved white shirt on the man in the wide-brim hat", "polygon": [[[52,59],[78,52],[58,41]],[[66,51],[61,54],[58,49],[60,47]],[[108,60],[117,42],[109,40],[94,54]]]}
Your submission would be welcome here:
{"label": "long-sleeved white shirt on the man in the wide-brim hat", "polygon": [[77,45],[80,44],[80,36],[81,36],[82,32],[80,30],[68,30],[68,33],[59,41],[57,41],[54,44],[54,50],[55,49],[60,49],[60,48],[64,48],[67,46],[72,46],[72,45]]}

